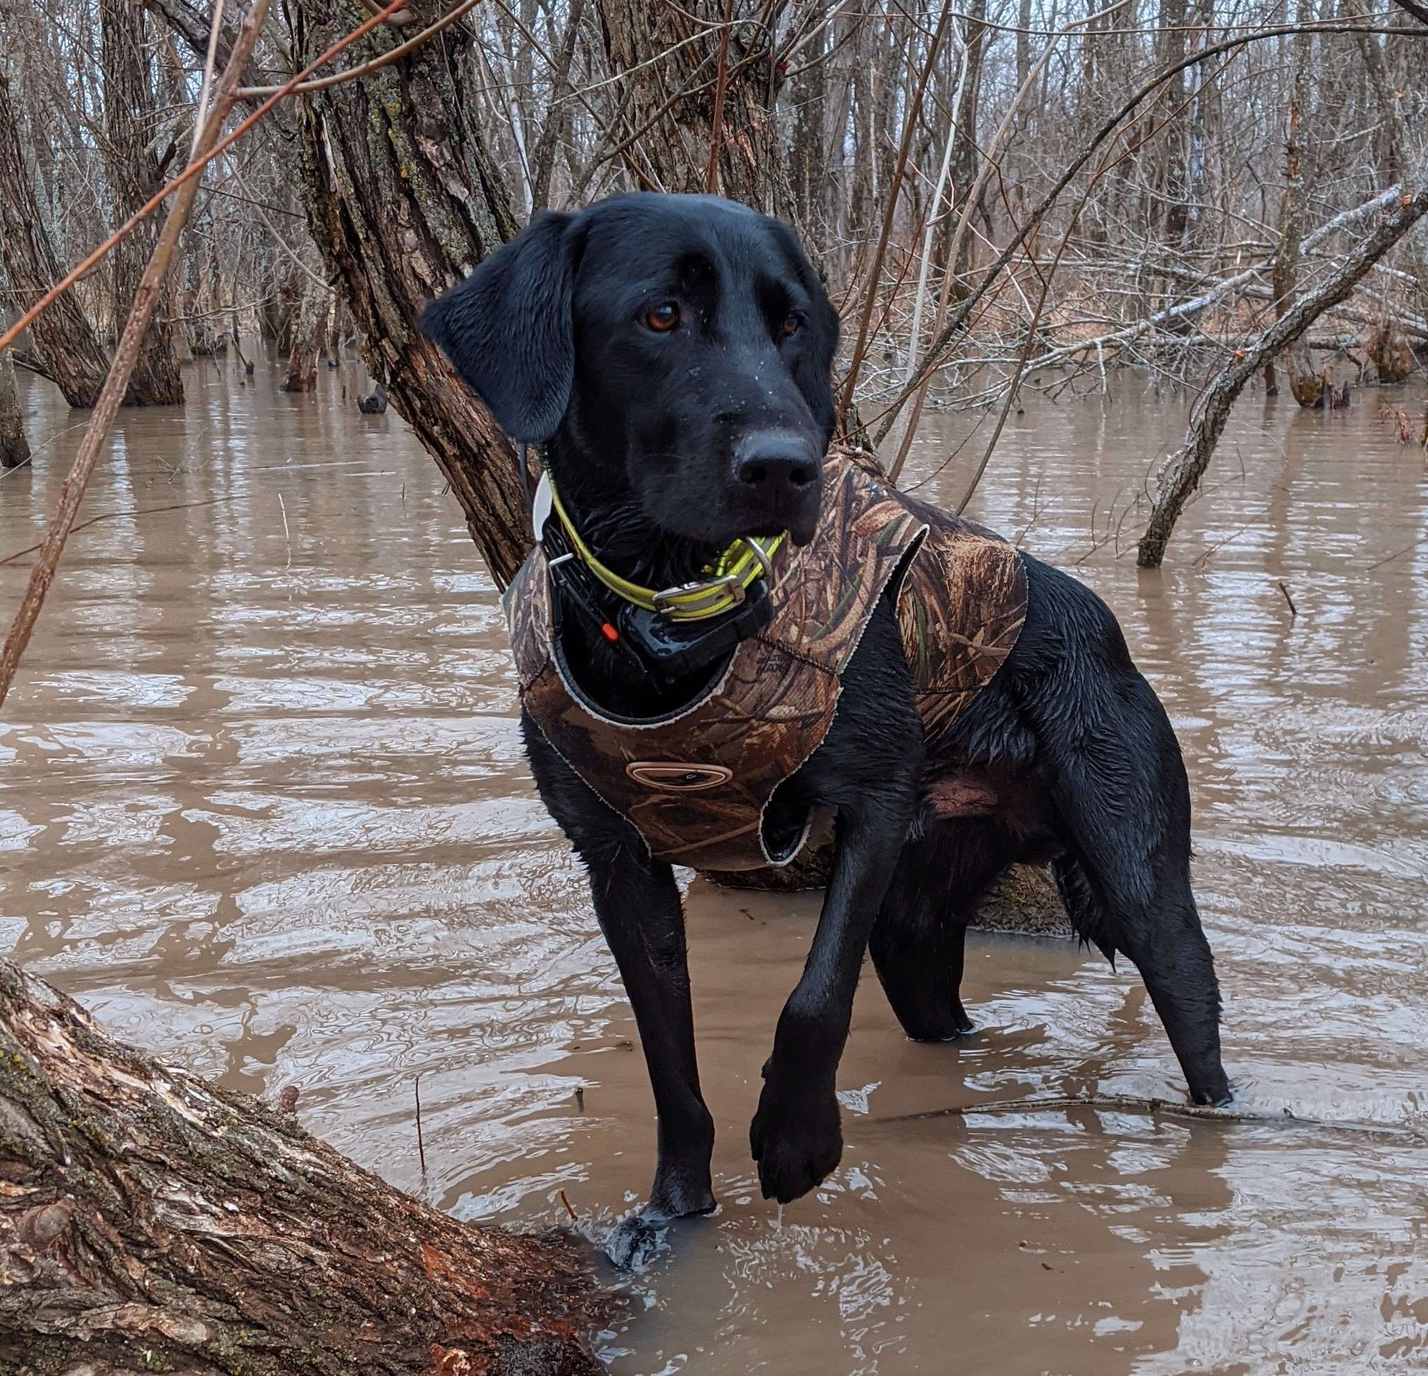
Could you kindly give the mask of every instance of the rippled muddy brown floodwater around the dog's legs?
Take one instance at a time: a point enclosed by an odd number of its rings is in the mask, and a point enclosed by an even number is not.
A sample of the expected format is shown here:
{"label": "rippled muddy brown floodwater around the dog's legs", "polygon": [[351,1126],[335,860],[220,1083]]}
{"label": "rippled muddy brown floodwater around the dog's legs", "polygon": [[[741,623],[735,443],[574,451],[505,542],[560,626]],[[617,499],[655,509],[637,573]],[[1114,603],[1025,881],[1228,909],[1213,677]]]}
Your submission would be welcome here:
{"label": "rippled muddy brown floodwater around the dog's legs", "polygon": [[[0,946],[121,1036],[298,1086],[306,1126],[460,1217],[561,1223],[564,1192],[598,1236],[648,1187],[653,1106],[530,784],[496,590],[401,422],[341,403],[354,370],[278,377],[210,363],[186,410],[121,420],[0,714]],[[1378,419],[1425,397],[1248,396],[1138,573],[1185,402],[1112,393],[1030,403],[972,514],[1090,582],[1170,709],[1225,1060],[1264,1120],[1038,1106],[1181,1079],[1124,964],[972,934],[961,1045],[910,1045],[864,980],[843,1166],[780,1219],[747,1125],[817,902],[695,882],[723,1203],[633,1279],[618,1376],[1428,1365],[1428,482]],[[47,384],[27,404],[0,556],[79,436]],[[987,429],[957,452],[968,424],[934,417],[908,482],[955,499]]]}

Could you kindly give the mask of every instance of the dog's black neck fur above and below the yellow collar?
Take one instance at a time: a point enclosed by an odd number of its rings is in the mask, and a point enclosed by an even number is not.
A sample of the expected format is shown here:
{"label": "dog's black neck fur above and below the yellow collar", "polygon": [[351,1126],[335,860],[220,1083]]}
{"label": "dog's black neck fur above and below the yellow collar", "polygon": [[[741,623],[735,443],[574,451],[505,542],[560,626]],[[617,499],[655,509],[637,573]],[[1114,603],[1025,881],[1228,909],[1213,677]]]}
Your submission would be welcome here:
{"label": "dog's black neck fur above and below the yellow collar", "polygon": [[[545,446],[543,462],[560,489],[561,504],[591,553],[611,572],[644,587],[665,589],[705,577],[721,546],[671,536],[641,510],[623,467],[593,463],[563,429]],[[553,516],[551,520],[555,517]],[[614,616],[618,602],[591,579],[594,596]],[[555,586],[561,652],[581,689],[623,717],[655,717],[691,702],[718,666],[665,683],[630,642],[611,644],[588,613],[571,606]]]}

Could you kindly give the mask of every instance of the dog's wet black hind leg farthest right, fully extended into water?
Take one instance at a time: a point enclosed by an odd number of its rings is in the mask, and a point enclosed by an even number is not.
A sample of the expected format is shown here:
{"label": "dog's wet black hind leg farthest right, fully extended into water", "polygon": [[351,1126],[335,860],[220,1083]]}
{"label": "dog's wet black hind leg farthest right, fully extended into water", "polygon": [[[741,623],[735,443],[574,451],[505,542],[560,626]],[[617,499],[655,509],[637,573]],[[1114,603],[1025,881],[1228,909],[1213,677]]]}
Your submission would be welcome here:
{"label": "dog's wet black hind leg farthest right, fully extended into water", "polygon": [[[1090,736],[1061,760],[1070,853],[1055,862],[1057,880],[1077,932],[1141,972],[1194,1102],[1227,1103],[1220,984],[1190,886],[1185,767],[1150,686],[1130,696],[1130,732]],[[1137,737],[1142,749],[1127,752]]]}

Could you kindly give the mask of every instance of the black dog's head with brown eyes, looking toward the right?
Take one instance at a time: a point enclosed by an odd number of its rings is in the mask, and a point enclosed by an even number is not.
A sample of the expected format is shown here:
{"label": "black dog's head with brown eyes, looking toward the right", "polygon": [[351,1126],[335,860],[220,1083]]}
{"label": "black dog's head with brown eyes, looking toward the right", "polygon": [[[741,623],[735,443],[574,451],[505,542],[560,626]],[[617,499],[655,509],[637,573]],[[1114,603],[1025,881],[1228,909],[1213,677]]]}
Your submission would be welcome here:
{"label": "black dog's head with brown eyes, looking toward the right", "polygon": [[813,536],[838,317],[785,224],[711,196],[544,214],[423,329],[511,439],[594,469],[573,477],[597,500],[717,546]]}

